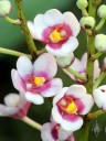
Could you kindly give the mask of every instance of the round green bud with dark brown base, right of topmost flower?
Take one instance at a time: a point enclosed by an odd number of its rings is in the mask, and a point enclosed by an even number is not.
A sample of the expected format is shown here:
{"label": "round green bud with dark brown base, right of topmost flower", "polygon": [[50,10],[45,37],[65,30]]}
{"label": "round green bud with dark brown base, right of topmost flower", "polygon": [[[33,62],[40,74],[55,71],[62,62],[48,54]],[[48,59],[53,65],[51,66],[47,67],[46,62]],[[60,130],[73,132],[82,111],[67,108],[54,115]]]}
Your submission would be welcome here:
{"label": "round green bud with dark brown base, right of topmost flower", "polygon": [[83,17],[80,23],[83,29],[93,29],[95,26],[95,19],[92,17]]}

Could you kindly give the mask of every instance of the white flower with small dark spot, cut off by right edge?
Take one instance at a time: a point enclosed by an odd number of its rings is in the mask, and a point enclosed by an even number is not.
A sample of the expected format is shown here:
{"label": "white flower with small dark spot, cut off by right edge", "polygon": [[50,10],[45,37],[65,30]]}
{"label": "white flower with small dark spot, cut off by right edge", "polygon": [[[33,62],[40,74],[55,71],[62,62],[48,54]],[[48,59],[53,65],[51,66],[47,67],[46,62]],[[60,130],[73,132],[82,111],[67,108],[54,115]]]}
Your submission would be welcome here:
{"label": "white flower with small dark spot, cut off by right edge", "polygon": [[96,105],[106,110],[106,85],[99,86],[98,88],[94,89],[94,100]]}

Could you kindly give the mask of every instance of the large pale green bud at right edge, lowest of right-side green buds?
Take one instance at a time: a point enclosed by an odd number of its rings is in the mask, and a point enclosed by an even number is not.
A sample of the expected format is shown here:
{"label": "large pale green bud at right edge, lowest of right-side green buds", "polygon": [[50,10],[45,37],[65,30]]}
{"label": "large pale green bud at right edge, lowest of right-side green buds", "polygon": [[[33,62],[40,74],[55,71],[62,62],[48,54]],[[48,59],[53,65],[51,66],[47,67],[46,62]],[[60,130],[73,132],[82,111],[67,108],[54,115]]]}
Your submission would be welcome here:
{"label": "large pale green bud at right edge, lowest of right-side green buds", "polygon": [[106,35],[97,34],[95,36],[95,47],[102,53],[106,53]]}

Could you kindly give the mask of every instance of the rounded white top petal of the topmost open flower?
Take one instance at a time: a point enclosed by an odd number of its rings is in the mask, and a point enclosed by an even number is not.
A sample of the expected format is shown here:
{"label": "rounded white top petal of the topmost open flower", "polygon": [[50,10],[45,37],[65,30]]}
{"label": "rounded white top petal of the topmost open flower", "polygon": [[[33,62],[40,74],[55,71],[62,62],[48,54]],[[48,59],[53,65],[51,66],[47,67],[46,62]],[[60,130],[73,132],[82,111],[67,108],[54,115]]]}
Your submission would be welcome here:
{"label": "rounded white top petal of the topmost open flower", "polygon": [[62,13],[56,9],[47,10],[44,13],[44,22],[49,26],[62,24],[63,20],[64,20],[64,18],[63,18]]}

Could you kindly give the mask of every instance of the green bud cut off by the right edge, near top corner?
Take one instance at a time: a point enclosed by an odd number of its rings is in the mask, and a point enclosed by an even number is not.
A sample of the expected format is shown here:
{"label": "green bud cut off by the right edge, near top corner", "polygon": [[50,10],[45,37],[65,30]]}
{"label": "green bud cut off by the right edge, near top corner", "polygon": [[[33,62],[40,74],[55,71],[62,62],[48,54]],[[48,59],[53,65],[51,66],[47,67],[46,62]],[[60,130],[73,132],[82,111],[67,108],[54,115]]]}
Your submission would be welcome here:
{"label": "green bud cut off by the right edge, near top corner", "polygon": [[106,6],[105,6],[105,4],[102,4],[102,6],[98,8],[97,14],[98,14],[99,18],[106,20]]}

